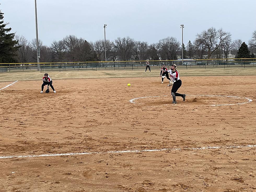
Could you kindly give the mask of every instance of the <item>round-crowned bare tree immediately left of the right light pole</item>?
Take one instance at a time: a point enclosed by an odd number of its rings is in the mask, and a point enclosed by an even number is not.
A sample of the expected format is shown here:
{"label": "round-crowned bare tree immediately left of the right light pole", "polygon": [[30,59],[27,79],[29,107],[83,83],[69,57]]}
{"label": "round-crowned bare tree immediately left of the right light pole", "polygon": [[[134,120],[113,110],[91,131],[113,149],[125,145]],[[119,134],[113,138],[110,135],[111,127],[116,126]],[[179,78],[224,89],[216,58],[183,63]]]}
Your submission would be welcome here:
{"label": "round-crowned bare tree immediately left of the right light pole", "polygon": [[177,53],[181,49],[180,42],[174,37],[166,37],[159,40],[161,59],[176,60]]}

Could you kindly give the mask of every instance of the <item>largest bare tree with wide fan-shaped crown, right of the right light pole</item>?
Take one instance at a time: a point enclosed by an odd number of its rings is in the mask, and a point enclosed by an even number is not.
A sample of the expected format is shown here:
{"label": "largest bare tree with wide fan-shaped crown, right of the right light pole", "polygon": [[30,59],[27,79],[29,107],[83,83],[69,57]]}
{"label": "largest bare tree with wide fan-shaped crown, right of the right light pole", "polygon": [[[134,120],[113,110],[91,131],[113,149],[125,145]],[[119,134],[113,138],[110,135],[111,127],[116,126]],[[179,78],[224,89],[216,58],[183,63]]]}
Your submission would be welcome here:
{"label": "largest bare tree with wide fan-shaped crown, right of the right light pole", "polygon": [[223,31],[222,28],[216,30],[214,27],[209,28],[207,31],[203,31],[197,34],[197,42],[203,44],[207,51],[207,59],[210,59],[211,55],[222,46],[224,42],[231,39],[229,32]]}

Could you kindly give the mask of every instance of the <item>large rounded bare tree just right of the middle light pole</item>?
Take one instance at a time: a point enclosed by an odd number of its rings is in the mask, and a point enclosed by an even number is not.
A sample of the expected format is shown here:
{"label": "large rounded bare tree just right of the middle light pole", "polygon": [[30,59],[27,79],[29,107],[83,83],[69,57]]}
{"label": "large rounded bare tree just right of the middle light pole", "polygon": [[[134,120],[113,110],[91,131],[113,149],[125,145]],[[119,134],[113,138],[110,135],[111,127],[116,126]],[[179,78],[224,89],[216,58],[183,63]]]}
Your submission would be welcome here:
{"label": "large rounded bare tree just right of the middle light pole", "polygon": [[117,48],[119,59],[129,61],[133,55],[134,40],[130,37],[118,37],[114,41],[114,46]]}

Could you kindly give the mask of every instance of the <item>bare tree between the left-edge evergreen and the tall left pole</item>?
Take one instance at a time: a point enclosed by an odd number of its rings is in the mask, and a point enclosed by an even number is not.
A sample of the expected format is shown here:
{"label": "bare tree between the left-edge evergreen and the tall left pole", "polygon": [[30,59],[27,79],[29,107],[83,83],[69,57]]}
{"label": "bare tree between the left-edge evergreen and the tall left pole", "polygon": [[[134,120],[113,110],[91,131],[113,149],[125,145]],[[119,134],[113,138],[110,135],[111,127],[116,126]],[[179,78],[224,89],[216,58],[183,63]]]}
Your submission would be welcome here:
{"label": "bare tree between the left-edge evergreen and the tall left pole", "polygon": [[[21,63],[32,62],[32,46],[24,36],[15,35],[15,40],[18,42],[17,59]],[[27,68],[27,67],[26,67]]]}

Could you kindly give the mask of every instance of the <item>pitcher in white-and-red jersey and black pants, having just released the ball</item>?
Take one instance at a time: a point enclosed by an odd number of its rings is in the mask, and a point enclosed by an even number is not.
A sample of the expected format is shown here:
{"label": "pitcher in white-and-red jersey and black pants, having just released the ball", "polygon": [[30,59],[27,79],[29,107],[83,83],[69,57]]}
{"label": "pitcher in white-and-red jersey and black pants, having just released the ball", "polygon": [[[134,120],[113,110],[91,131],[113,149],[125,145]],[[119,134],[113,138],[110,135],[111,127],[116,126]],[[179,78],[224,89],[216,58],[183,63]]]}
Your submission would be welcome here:
{"label": "pitcher in white-and-red jersey and black pants, having just released the ball", "polygon": [[177,93],[178,89],[181,87],[182,81],[179,78],[179,72],[176,70],[177,65],[176,64],[172,64],[171,69],[169,69],[167,72],[170,73],[170,77],[172,79],[172,82],[170,82],[169,85],[172,85],[172,98],[173,98],[173,102],[172,104],[176,104],[176,96],[180,96],[183,98],[183,101],[185,101],[186,98],[186,94],[179,94]]}

